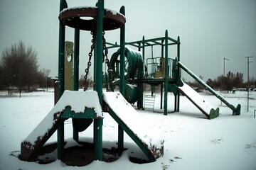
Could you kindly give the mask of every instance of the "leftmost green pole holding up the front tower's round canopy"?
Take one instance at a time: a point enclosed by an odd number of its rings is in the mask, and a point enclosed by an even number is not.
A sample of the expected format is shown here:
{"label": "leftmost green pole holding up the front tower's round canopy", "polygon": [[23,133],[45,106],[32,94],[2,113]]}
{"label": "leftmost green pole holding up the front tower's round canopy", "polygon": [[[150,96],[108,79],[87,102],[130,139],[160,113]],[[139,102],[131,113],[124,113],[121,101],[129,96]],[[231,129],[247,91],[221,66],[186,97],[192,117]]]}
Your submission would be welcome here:
{"label": "leftmost green pole holding up the front tower's round canopy", "polygon": [[[65,0],[60,0],[60,11],[68,8]],[[64,93],[64,63],[65,63],[65,26],[59,23],[59,52],[58,52],[58,98]],[[58,159],[64,160],[64,120],[60,120],[57,130]]]}

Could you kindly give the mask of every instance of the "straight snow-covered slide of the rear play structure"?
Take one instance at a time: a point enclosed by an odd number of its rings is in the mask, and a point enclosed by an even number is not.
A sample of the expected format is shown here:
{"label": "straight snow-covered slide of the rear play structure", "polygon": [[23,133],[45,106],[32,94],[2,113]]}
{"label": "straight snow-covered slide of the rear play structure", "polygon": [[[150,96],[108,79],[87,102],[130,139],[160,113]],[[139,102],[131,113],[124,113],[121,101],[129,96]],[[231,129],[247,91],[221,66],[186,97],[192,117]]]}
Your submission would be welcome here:
{"label": "straight snow-covered slide of the rear play structure", "polygon": [[178,87],[178,91],[186,96],[208,119],[216,118],[219,116],[219,108],[214,109],[203,96],[198,94],[191,86],[183,82],[183,86]]}

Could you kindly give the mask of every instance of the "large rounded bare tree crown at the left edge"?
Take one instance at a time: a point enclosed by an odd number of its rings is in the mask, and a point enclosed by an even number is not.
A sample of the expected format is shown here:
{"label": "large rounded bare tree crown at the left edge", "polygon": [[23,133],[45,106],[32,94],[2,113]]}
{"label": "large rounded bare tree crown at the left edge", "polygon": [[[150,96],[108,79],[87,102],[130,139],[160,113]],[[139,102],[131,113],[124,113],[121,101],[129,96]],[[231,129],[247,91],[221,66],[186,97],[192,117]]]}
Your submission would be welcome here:
{"label": "large rounded bare tree crown at the left edge", "polygon": [[9,88],[16,86],[24,88],[35,84],[38,75],[37,53],[32,47],[27,47],[22,41],[11,45],[2,52],[1,57],[1,81]]}

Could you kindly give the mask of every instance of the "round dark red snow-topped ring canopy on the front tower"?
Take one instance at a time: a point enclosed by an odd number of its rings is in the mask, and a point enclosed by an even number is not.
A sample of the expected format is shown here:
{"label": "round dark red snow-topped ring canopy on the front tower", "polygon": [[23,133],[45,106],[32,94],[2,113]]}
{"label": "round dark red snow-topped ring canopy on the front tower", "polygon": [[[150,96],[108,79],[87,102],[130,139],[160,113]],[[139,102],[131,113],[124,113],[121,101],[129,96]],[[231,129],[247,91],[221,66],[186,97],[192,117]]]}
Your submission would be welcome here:
{"label": "round dark red snow-topped ring canopy on the front tower", "polygon": [[[109,9],[104,9],[103,30],[114,30],[124,26],[125,17]],[[65,25],[80,30],[96,30],[97,7],[65,8],[60,12],[59,20]]]}

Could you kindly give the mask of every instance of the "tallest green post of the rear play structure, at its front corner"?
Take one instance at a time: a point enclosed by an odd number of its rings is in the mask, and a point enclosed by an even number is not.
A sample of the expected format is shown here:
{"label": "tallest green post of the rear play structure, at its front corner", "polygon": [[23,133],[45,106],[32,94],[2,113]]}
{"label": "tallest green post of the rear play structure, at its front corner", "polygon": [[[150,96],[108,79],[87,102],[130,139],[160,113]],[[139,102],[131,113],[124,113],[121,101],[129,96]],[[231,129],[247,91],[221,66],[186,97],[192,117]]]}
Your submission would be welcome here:
{"label": "tallest green post of the rear play structure, at its front corner", "polygon": [[165,33],[165,75],[164,75],[164,115],[167,115],[167,95],[168,95],[168,31]]}

